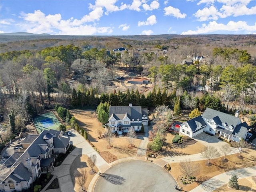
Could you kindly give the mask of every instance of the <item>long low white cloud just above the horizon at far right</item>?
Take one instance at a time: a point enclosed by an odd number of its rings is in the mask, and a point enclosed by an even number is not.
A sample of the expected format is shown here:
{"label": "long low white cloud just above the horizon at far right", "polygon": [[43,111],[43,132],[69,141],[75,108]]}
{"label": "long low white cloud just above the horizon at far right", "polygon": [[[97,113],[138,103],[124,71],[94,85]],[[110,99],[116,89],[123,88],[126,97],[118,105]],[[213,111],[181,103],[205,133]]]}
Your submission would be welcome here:
{"label": "long low white cloud just above the horizon at far right", "polygon": [[252,26],[247,25],[245,21],[230,21],[228,24],[217,23],[216,21],[209,22],[208,25],[202,24],[201,28],[197,27],[197,30],[188,30],[182,32],[182,35],[195,35],[195,34],[207,34],[215,31],[246,31],[256,32],[256,23]]}

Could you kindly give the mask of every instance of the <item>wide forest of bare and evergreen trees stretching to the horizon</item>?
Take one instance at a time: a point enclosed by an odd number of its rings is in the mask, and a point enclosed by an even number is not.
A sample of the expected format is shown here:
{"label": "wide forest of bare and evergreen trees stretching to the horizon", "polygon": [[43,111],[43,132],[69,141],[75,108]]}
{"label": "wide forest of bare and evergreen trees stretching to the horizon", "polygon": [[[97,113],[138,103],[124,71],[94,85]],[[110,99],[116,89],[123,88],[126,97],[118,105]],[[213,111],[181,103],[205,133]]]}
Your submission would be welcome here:
{"label": "wide forest of bare and evergreen trees stretching to the horizon", "polygon": [[[234,38],[228,45],[223,37],[218,41],[218,36],[25,41],[30,46],[23,41],[2,43],[0,47],[10,51],[0,53],[0,114],[10,117],[18,132],[42,109],[55,104],[96,108],[100,103],[114,106],[132,102],[145,107],[170,106],[176,114],[181,109],[202,111],[206,107],[253,110],[256,42],[252,39],[239,44]],[[117,47],[126,50],[113,52]],[[205,62],[182,64],[194,56],[205,56]],[[113,90],[118,70],[148,76],[154,86],[146,94],[133,89]],[[73,76],[80,78],[70,83]],[[208,86],[209,90],[195,92],[196,86]]]}

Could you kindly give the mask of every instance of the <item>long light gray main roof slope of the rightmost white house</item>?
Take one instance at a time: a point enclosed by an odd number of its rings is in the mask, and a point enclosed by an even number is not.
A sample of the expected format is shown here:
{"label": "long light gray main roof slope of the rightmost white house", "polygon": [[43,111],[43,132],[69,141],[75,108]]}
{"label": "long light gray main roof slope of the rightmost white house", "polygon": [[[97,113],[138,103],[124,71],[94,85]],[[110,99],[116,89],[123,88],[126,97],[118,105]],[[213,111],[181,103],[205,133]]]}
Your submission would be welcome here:
{"label": "long light gray main roof slope of the rightmost white house", "polygon": [[222,123],[227,123],[228,126],[233,125],[234,127],[236,127],[236,125],[242,123],[240,118],[217,111],[217,110],[213,110],[211,108],[206,108],[206,110],[204,111],[204,114],[202,114],[203,118],[206,118],[208,120],[214,118],[218,116],[221,120]]}

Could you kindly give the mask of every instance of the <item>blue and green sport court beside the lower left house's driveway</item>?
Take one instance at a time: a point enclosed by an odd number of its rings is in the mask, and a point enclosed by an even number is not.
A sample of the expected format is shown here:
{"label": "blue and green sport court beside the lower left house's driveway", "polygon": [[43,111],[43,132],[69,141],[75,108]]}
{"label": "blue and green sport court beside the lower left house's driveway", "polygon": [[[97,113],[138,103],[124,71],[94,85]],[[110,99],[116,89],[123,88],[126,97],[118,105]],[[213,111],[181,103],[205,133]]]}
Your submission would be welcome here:
{"label": "blue and green sport court beside the lower left house's driveway", "polygon": [[33,119],[33,122],[38,133],[49,129],[58,130],[58,127],[61,124],[56,116],[51,112],[37,116]]}

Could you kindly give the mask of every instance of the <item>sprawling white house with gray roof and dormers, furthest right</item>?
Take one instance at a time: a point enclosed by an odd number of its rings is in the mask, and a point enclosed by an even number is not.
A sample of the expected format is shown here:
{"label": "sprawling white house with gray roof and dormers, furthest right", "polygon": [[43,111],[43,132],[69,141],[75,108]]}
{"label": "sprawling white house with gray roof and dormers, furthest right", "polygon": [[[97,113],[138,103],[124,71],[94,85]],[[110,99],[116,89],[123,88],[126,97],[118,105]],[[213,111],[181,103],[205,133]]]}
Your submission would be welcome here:
{"label": "sprawling white house with gray roof and dormers, furthest right", "polygon": [[191,138],[201,132],[208,132],[213,135],[218,135],[227,140],[239,142],[241,138],[246,139],[250,127],[246,122],[238,118],[239,112],[235,116],[206,108],[204,114],[188,120],[180,125],[180,134]]}

